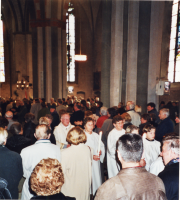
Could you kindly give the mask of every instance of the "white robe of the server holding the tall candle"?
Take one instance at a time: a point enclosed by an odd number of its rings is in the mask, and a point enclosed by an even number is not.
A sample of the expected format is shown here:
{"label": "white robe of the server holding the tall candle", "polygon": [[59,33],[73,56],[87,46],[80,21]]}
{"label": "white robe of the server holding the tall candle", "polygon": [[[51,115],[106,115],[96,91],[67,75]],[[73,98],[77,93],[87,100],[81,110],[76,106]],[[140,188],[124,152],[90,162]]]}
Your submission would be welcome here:
{"label": "white robe of the server holding the tall candle", "polygon": [[[99,145],[99,135],[95,132],[92,132],[92,134],[89,134],[85,132],[87,136],[86,145],[91,147],[93,151],[93,155],[97,155],[98,151],[98,145]],[[100,168],[100,162],[103,163],[104,156],[105,156],[105,148],[104,144],[101,141],[101,155],[100,160],[92,161],[92,183],[93,183],[93,195],[95,194],[96,190],[101,186],[102,184],[102,178],[101,178],[101,168]]]}

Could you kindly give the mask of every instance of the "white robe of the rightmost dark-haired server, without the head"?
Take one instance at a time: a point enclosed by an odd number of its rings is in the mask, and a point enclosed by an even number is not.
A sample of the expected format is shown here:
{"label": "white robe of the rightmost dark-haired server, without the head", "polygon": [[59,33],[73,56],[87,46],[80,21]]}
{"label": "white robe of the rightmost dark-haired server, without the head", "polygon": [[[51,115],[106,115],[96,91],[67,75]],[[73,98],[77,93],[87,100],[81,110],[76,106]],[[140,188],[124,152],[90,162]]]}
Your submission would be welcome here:
{"label": "white robe of the rightmost dark-haired server, without the head", "polygon": [[148,141],[143,138],[143,146],[144,146],[144,157],[146,161],[146,170],[150,170],[151,164],[158,158],[160,154],[160,142],[153,140]]}

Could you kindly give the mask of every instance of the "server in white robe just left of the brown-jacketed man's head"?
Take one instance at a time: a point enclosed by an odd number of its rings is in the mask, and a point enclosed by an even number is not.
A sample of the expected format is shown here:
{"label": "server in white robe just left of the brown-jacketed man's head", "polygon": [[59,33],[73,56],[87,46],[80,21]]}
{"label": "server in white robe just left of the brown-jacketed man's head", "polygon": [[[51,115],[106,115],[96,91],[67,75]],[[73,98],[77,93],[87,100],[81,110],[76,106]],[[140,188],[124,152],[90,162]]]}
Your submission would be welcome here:
{"label": "server in white robe just left of the brown-jacketed man's head", "polygon": [[120,170],[120,166],[116,161],[116,142],[125,134],[123,118],[121,116],[116,115],[113,117],[112,123],[114,129],[109,133],[107,140],[107,168],[109,178],[116,176]]}

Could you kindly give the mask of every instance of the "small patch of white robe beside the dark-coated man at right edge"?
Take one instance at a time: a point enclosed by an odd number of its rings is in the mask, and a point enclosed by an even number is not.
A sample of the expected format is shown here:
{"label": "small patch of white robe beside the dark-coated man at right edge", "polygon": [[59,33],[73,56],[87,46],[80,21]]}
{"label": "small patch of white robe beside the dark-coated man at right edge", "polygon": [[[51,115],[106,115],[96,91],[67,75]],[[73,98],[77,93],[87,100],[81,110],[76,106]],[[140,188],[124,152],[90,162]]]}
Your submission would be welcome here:
{"label": "small patch of white robe beside the dark-coated man at right edge", "polygon": [[149,172],[154,174],[154,175],[158,175],[160,172],[162,172],[164,170],[164,163],[162,160],[162,157],[159,156],[150,166],[150,170]]}

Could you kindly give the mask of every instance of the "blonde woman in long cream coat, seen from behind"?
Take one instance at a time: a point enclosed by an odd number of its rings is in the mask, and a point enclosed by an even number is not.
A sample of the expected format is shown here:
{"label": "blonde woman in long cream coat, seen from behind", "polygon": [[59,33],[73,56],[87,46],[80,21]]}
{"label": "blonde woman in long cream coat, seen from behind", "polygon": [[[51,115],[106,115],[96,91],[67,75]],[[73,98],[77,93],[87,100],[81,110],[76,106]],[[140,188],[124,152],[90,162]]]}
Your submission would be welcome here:
{"label": "blonde woman in long cream coat, seen from behind", "polygon": [[62,193],[76,200],[88,200],[90,196],[92,155],[84,144],[86,139],[83,129],[72,128],[66,138],[71,146],[61,152],[65,179]]}

